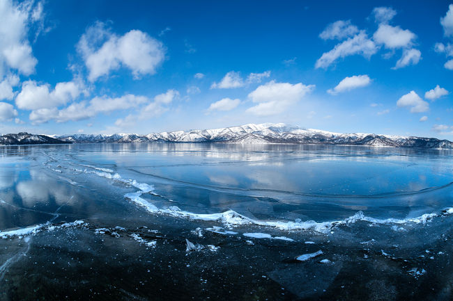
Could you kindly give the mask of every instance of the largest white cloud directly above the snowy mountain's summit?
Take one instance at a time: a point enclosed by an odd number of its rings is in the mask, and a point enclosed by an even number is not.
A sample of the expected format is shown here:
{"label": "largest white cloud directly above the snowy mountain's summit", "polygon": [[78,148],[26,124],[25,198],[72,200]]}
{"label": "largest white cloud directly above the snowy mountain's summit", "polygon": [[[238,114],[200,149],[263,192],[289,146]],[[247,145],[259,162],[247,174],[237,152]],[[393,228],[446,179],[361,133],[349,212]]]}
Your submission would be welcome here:
{"label": "largest white cloud directly above the snowy mountain's summit", "polygon": [[302,83],[291,84],[270,81],[249,93],[249,99],[257,105],[248,108],[247,113],[259,116],[282,113],[313,89],[314,85],[305,86]]}

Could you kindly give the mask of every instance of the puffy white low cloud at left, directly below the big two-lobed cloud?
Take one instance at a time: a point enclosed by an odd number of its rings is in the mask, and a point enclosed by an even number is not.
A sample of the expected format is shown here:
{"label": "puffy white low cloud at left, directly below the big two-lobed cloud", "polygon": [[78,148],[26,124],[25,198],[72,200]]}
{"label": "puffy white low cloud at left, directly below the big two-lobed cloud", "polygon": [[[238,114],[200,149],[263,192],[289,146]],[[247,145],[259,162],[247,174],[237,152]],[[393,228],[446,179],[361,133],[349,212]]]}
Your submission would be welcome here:
{"label": "puffy white low cloud at left, directly below the big two-lobed cloud", "polygon": [[86,92],[82,83],[75,81],[57,83],[54,90],[50,90],[49,84],[38,85],[36,81],[25,81],[15,101],[17,107],[24,110],[53,108],[67,104],[82,92]]}

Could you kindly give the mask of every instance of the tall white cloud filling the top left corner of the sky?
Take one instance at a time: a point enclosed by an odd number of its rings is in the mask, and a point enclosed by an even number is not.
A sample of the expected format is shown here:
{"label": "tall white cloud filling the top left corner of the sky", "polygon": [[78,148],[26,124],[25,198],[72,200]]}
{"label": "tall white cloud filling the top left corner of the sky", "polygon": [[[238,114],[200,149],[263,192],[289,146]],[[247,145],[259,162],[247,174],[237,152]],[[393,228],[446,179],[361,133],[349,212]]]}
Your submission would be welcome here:
{"label": "tall white cloud filling the top left corner of the sky", "polygon": [[8,69],[24,75],[35,72],[38,60],[33,56],[28,35],[29,25],[43,16],[33,13],[40,6],[40,2],[34,6],[31,1],[0,1],[0,79]]}

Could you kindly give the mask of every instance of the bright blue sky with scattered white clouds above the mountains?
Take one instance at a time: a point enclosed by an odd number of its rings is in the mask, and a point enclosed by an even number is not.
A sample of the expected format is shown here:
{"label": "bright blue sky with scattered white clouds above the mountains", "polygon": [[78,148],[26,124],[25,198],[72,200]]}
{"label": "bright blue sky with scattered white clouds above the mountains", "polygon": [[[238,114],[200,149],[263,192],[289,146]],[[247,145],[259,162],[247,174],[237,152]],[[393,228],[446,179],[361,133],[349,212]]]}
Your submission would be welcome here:
{"label": "bright blue sky with scattered white clouds above the mountains", "polygon": [[0,132],[453,139],[451,1],[0,0]]}

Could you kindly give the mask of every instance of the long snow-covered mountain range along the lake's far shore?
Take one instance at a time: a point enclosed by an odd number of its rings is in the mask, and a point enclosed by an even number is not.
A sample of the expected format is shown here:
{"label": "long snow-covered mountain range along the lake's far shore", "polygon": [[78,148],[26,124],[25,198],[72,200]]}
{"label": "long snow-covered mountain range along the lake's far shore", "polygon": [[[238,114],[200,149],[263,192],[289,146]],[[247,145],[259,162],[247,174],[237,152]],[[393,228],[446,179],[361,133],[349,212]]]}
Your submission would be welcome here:
{"label": "long snow-covered mountain range along the lake's far shore", "polygon": [[425,147],[453,149],[453,143],[436,138],[376,135],[373,133],[333,133],[301,129],[286,124],[245,124],[239,127],[172,131],[138,135],[64,135],[53,136],[70,143],[295,143],[318,145],[368,145],[376,147]]}

